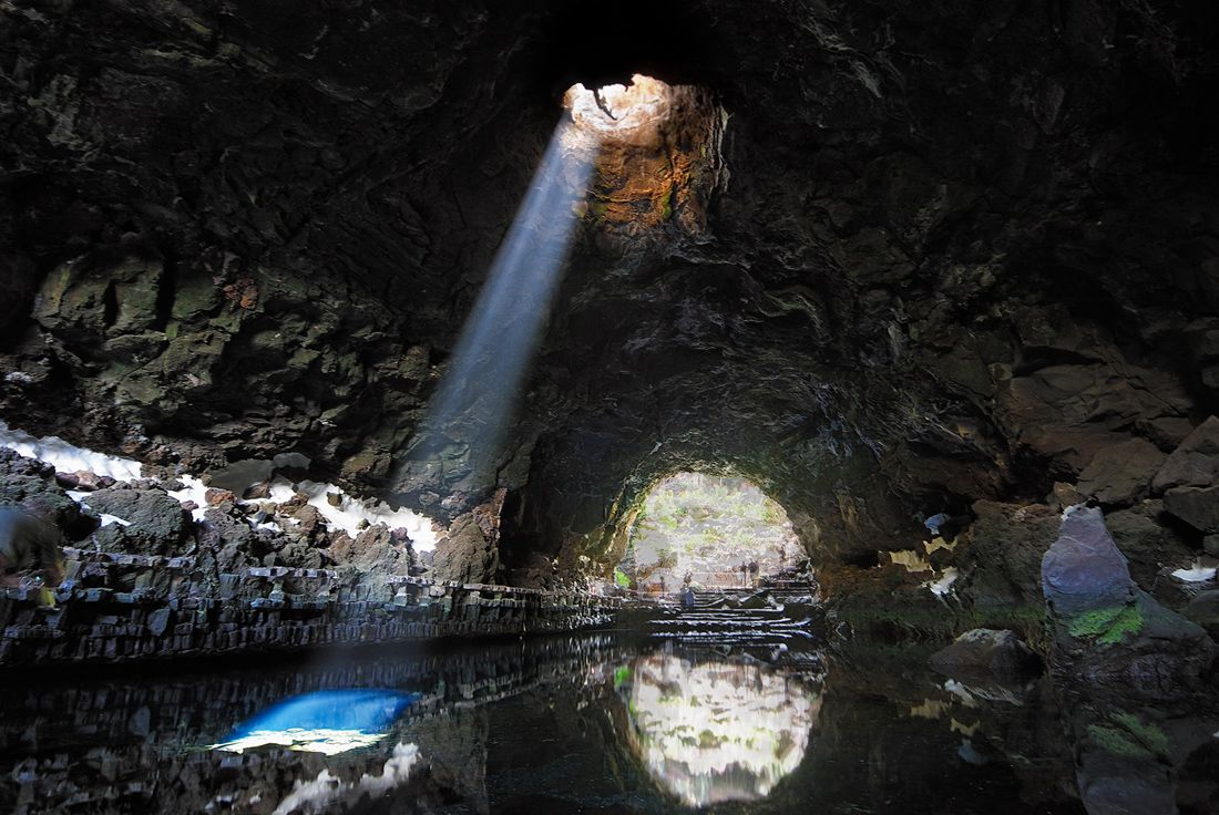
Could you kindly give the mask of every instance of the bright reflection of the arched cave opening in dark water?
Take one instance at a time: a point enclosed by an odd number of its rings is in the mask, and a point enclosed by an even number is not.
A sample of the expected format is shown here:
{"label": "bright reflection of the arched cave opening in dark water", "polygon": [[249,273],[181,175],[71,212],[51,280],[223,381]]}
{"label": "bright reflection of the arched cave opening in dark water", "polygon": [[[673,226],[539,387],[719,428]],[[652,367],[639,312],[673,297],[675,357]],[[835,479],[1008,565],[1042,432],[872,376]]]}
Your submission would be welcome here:
{"label": "bright reflection of the arched cave opening in dark water", "polygon": [[803,760],[820,710],[803,681],[759,663],[670,653],[633,668],[634,741],[649,771],[684,803],[764,798]]}

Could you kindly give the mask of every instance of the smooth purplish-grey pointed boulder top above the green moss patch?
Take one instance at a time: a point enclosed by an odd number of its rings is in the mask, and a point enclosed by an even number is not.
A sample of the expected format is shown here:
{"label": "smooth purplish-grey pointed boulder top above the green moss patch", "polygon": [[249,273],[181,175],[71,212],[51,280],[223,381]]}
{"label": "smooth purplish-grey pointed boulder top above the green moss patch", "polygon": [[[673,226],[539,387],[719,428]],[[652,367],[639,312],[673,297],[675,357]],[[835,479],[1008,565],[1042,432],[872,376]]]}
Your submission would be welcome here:
{"label": "smooth purplish-grey pointed boulder top above the green moss patch", "polygon": [[1041,591],[1051,609],[1063,615],[1134,598],[1126,559],[1100,509],[1072,507],[1063,513],[1058,540],[1041,559]]}

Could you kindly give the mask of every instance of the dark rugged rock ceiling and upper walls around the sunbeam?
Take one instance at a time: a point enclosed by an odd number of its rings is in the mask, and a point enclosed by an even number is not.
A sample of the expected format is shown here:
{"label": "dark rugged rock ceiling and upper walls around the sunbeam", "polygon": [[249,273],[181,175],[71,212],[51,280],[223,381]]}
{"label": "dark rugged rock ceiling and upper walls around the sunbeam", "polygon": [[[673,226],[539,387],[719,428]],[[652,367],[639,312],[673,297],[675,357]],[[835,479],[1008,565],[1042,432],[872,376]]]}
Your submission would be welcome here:
{"label": "dark rugged rock ceiling and upper walls around the sunbeam", "polygon": [[[511,571],[685,469],[858,560],[1215,412],[1212,4],[572,5],[0,2],[0,417],[494,496]],[[694,191],[594,189],[494,479],[403,470],[564,91],[636,72]]]}

